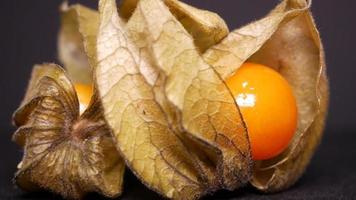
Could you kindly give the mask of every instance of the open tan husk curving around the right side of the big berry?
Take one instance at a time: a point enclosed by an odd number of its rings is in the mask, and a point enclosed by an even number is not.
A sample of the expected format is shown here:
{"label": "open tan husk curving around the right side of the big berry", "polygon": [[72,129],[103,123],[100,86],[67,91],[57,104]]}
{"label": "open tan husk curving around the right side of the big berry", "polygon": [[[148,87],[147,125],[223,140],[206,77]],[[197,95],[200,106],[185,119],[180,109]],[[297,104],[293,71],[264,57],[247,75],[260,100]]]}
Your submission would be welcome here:
{"label": "open tan husk curving around the right side of the big berry", "polygon": [[250,61],[274,68],[293,88],[297,131],[280,156],[255,164],[251,183],[259,190],[279,191],[297,181],[322,136],[329,91],[310,5],[311,1],[285,0],[265,18],[233,31],[204,54],[224,79]]}

